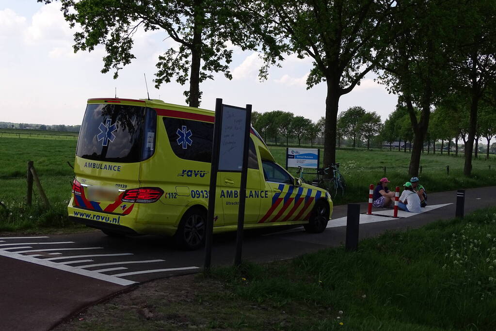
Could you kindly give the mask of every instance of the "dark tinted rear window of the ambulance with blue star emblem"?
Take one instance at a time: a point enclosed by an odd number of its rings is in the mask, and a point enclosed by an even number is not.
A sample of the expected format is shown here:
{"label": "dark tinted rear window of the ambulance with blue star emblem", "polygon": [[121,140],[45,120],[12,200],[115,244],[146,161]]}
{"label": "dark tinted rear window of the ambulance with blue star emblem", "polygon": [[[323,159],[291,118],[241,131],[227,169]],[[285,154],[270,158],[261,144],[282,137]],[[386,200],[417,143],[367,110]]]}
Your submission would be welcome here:
{"label": "dark tinted rear window of the ambulance with blue star emblem", "polygon": [[[153,114],[148,114],[148,112]],[[83,159],[131,163],[155,149],[154,110],[116,104],[88,105],[76,155]],[[145,136],[146,135],[146,136]]]}

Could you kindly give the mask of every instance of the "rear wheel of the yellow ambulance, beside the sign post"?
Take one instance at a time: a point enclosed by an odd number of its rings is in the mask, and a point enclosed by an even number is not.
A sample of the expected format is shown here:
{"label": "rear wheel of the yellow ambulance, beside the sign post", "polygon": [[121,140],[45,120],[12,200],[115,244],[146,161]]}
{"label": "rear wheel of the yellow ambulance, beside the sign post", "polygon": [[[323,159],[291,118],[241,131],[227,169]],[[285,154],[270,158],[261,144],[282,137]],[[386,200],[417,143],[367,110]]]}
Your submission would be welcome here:
{"label": "rear wheel of the yellow ambulance, beside the sign post", "polygon": [[186,250],[195,250],[205,244],[207,213],[201,208],[191,208],[179,222],[174,235],[176,244]]}

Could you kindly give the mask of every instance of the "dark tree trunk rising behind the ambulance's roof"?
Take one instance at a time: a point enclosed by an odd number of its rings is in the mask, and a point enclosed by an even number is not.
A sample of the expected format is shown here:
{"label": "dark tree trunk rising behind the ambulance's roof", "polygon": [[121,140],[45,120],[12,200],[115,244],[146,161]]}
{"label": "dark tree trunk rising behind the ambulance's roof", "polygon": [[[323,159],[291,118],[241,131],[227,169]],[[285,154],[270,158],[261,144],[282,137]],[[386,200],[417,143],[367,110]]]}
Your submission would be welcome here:
{"label": "dark tree trunk rising behind the ambulance's roof", "polygon": [[191,71],[189,74],[189,93],[187,100],[189,107],[200,106],[200,65],[201,65],[201,35],[203,30],[203,12],[201,0],[194,0],[193,40],[191,49]]}

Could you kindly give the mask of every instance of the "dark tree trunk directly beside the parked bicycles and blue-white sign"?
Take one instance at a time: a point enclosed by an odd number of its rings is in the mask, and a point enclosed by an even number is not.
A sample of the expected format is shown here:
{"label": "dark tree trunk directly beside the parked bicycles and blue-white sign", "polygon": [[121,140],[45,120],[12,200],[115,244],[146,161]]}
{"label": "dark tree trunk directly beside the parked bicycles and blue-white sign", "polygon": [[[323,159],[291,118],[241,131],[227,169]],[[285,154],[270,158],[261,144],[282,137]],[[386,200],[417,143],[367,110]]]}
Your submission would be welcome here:
{"label": "dark tree trunk directly beside the parked bicycles and blue-white sign", "polygon": [[336,163],[336,124],[339,107],[338,80],[326,79],[327,96],[325,98],[324,128],[324,167]]}

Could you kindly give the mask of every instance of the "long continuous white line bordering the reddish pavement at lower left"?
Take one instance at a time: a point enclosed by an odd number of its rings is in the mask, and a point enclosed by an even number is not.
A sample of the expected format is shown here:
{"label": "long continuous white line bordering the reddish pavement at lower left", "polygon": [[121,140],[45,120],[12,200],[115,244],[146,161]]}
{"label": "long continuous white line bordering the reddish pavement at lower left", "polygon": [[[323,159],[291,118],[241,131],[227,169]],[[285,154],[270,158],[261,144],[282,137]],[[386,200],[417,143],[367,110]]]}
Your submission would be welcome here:
{"label": "long continuous white line bordering the reddish pavement at lower left", "polygon": [[112,275],[99,274],[99,273],[95,273],[94,271],[91,271],[91,270],[78,269],[78,268],[74,268],[74,267],[71,267],[71,266],[66,266],[64,264],[60,264],[60,263],[57,263],[57,262],[52,262],[52,261],[46,261],[44,259],[33,258],[33,257],[29,256],[29,255],[17,254],[15,252],[6,252],[6,251],[1,251],[0,250],[0,256],[5,256],[5,257],[8,257],[8,258],[12,258],[12,259],[16,259],[16,260],[21,260],[21,261],[26,261],[26,262],[31,262],[31,263],[34,263],[34,264],[37,264],[37,265],[46,266],[46,267],[50,267],[50,268],[54,268],[54,269],[58,269],[58,270],[63,270],[63,271],[67,271],[69,273],[78,274],[78,275],[82,275],[82,276],[87,276],[87,277],[91,277],[91,278],[96,278],[96,279],[108,281],[108,282],[111,282],[111,283],[114,283],[114,284],[123,285],[123,286],[131,285],[131,284],[136,283],[136,281],[127,280],[127,279],[119,278],[119,277],[112,276]]}

